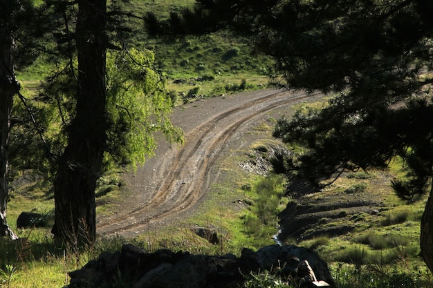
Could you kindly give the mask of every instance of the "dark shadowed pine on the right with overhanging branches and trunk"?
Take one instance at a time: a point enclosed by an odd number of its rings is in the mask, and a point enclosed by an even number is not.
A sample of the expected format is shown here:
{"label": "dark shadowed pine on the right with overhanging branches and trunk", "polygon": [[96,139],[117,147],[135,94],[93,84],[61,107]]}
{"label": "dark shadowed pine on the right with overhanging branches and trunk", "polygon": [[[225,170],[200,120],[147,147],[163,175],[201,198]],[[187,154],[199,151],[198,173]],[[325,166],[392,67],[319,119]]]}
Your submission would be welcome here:
{"label": "dark shadowed pine on the right with overhanging branches and trunk", "polygon": [[275,84],[335,93],[326,108],[278,122],[275,136],[306,147],[288,169],[329,184],[402,157],[407,177],[392,182],[396,193],[430,194],[421,253],[433,271],[432,13],[427,0],[201,0],[167,21],[145,18],[151,34],[250,35],[275,58]]}

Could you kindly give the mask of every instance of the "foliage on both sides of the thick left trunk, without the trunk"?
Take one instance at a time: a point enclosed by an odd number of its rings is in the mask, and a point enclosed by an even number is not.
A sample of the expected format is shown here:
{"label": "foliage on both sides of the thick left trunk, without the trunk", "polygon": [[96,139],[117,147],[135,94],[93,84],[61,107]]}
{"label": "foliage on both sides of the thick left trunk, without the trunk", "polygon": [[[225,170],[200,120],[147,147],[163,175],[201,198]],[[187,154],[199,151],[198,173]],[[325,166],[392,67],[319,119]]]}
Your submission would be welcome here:
{"label": "foliage on both sides of the thick left trunk, without the trunk", "polygon": [[[158,131],[168,141],[183,141],[182,132],[169,122],[171,103],[163,77],[155,68],[154,55],[148,50],[128,51],[127,26],[133,15],[125,12],[124,2],[111,1],[107,6],[108,142],[104,169],[113,164],[142,164],[153,153]],[[55,65],[47,71],[38,95],[27,99],[27,107],[15,107],[18,121],[12,131],[11,160],[14,169],[35,169],[52,181],[77,108],[77,6],[73,2],[44,1],[37,12],[37,19],[43,21],[35,26],[32,35],[41,35],[44,47],[37,43],[26,47],[36,48],[39,57]],[[26,117],[26,109],[30,109],[36,123]]]}

